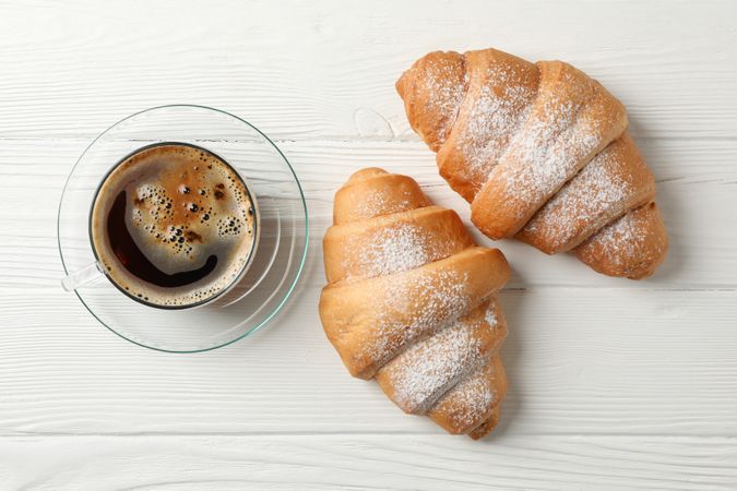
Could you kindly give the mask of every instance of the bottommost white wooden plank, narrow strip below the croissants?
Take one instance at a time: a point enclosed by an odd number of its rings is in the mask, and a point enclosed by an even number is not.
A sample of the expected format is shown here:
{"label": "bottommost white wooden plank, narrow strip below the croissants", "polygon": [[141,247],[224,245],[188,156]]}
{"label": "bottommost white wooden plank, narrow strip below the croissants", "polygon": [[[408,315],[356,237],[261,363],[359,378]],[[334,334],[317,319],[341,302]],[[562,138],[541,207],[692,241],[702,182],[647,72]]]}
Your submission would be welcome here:
{"label": "bottommost white wooden plank, narrow strip below the croissants", "polygon": [[737,487],[729,439],[426,435],[19,436],[12,489],[667,489]]}

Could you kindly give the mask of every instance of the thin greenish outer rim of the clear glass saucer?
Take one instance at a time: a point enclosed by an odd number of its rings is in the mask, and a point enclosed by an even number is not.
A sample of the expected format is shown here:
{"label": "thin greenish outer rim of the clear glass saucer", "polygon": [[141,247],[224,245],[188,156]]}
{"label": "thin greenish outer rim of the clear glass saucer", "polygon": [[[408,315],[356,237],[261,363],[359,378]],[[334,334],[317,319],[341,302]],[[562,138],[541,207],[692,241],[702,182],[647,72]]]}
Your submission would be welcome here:
{"label": "thin greenish outer rim of the clear glass saucer", "polygon": [[[274,316],[275,316],[278,312],[282,311],[282,309],[283,309],[284,306],[286,304],[287,300],[292,297],[292,294],[294,294],[294,290],[295,290],[295,288],[297,287],[297,283],[299,282],[299,278],[301,277],[302,272],[305,271],[305,264],[307,263],[307,252],[308,252],[308,248],[309,248],[309,237],[310,237],[310,236],[309,236],[309,227],[310,227],[310,226],[309,226],[309,213],[308,213],[308,211],[307,211],[307,201],[305,200],[305,192],[302,191],[301,182],[299,181],[299,178],[297,177],[297,173],[295,172],[295,169],[292,167],[292,164],[289,163],[289,159],[286,157],[286,155],[284,155],[284,153],[282,152],[282,149],[281,149],[281,148],[280,148],[280,147],[278,147],[278,146],[277,146],[277,145],[269,137],[269,136],[266,136],[266,134],[265,134],[264,132],[262,132],[261,130],[259,130],[257,127],[254,127],[254,125],[251,124],[250,122],[246,121],[246,120],[242,119],[242,118],[239,118],[238,116],[236,116],[236,115],[234,115],[234,113],[231,113],[231,112],[228,112],[228,111],[225,111],[225,110],[222,110],[222,109],[216,109],[216,108],[214,108],[214,107],[202,106],[202,105],[197,105],[197,104],[166,104],[166,105],[163,105],[163,106],[150,107],[150,108],[147,108],[147,109],[143,109],[143,110],[140,110],[140,111],[138,111],[138,112],[133,112],[132,115],[129,115],[129,116],[127,116],[127,117],[124,117],[124,118],[122,118],[122,119],[116,121],[115,123],[110,124],[107,129],[105,129],[105,131],[103,131],[100,134],[98,134],[98,135],[90,143],[90,145],[87,145],[87,146],[84,148],[84,152],[82,152],[82,153],[80,154],[80,156],[78,157],[76,161],[74,163],[74,166],[73,166],[72,169],[69,171],[69,176],[67,176],[67,179],[64,180],[64,187],[62,188],[62,191],[61,191],[61,197],[59,199],[59,206],[58,206],[58,211],[57,211],[57,248],[59,249],[59,258],[61,259],[61,266],[62,266],[63,270],[64,270],[64,274],[66,274],[66,275],[69,275],[70,272],[69,272],[69,270],[67,268],[67,263],[64,262],[64,255],[63,255],[62,250],[61,250],[61,229],[60,229],[60,226],[61,226],[61,204],[62,204],[62,202],[63,202],[64,195],[67,194],[67,188],[69,187],[69,183],[70,183],[70,181],[71,181],[71,179],[72,179],[72,176],[74,175],[74,169],[76,169],[76,166],[80,165],[80,161],[81,161],[82,158],[86,155],[86,153],[90,151],[90,148],[92,148],[92,146],[93,146],[95,143],[97,143],[97,141],[98,141],[99,139],[102,139],[103,136],[105,136],[110,130],[112,130],[112,129],[116,128],[118,124],[122,123],[123,121],[128,121],[129,119],[132,119],[132,118],[135,118],[136,116],[143,115],[144,112],[151,112],[151,111],[154,111],[154,110],[158,110],[158,109],[167,109],[167,108],[195,108],[195,109],[204,109],[204,110],[210,110],[210,111],[213,111],[213,112],[219,112],[221,115],[225,115],[225,116],[228,116],[228,117],[230,117],[230,118],[237,119],[237,120],[240,121],[241,123],[243,123],[243,124],[248,125],[249,128],[251,128],[251,129],[252,129],[253,131],[255,131],[259,135],[261,135],[261,137],[263,137],[263,139],[264,139],[264,140],[265,140],[265,141],[266,141],[266,142],[268,142],[268,143],[276,151],[276,153],[278,153],[278,155],[284,159],[284,163],[285,163],[285,164],[287,165],[287,167],[289,168],[289,172],[292,172],[292,176],[294,177],[295,182],[297,183],[297,189],[299,190],[299,199],[301,200],[301,203],[302,203],[302,209],[305,211],[305,248],[304,248],[304,250],[302,250],[301,258],[299,259],[299,267],[298,267],[298,270],[297,270],[297,274],[295,275],[295,278],[294,278],[294,280],[292,282],[292,285],[289,285],[289,288],[287,289],[286,294],[284,295],[284,298],[283,298],[283,299],[280,301],[280,303],[272,310],[272,312],[271,312],[263,321],[261,321],[255,327],[253,327],[253,328],[247,331],[246,333],[241,334],[240,336],[237,336],[237,337],[235,337],[235,338],[233,338],[233,339],[230,339],[230,340],[228,340],[228,342],[226,342],[226,343],[221,343],[219,345],[210,346],[210,347],[207,347],[207,348],[202,348],[202,349],[186,349],[186,350],[164,349],[164,348],[157,348],[157,347],[155,347],[155,346],[144,345],[143,343],[139,343],[139,342],[136,342],[135,339],[131,339],[130,337],[127,337],[127,336],[120,334],[119,332],[117,332],[116,330],[114,330],[112,327],[110,327],[109,325],[107,325],[99,316],[97,316],[97,314],[94,312],[94,310],[91,309],[90,306],[87,306],[87,303],[84,301],[84,299],[83,299],[82,296],[79,294],[79,291],[74,290],[74,295],[76,295],[76,298],[80,299],[80,301],[82,302],[82,304],[84,306],[84,308],[87,310],[87,312],[90,312],[90,314],[92,314],[92,316],[95,318],[95,320],[97,320],[97,322],[99,322],[100,324],[103,324],[103,325],[105,326],[105,328],[107,328],[108,331],[110,331],[110,332],[111,332],[112,334],[115,334],[116,336],[121,337],[121,338],[126,339],[126,340],[129,342],[129,343],[132,343],[132,344],[134,344],[134,345],[141,346],[141,347],[143,347],[143,348],[153,349],[153,350],[155,350],[155,351],[161,351],[161,352],[171,352],[171,354],[206,352],[206,351],[212,351],[213,349],[223,348],[223,347],[228,346],[228,345],[231,345],[231,344],[234,344],[234,343],[236,343],[236,342],[238,342],[238,340],[240,340],[240,339],[243,339],[245,337],[248,337],[248,336],[250,336],[251,334],[253,334],[253,333],[255,333],[255,332],[258,332],[258,331],[261,331],[266,324],[269,324],[269,322],[270,322],[272,319],[274,319]],[[179,143],[181,143],[181,142],[179,142]],[[115,168],[115,166],[112,166],[112,168]],[[237,169],[236,169],[236,170],[237,170]],[[109,171],[108,171],[108,172],[109,172]],[[107,172],[105,173],[105,176],[107,176]],[[105,179],[105,176],[103,177],[103,179]],[[91,244],[91,247],[92,247],[92,244]],[[93,254],[95,254],[95,256],[96,256],[96,253],[94,252],[94,248],[93,248]],[[117,285],[115,284],[115,282],[110,282],[110,283],[111,283],[114,286],[117,287]],[[129,298],[131,298],[131,297],[129,297]],[[147,307],[151,307],[151,306],[147,306]],[[152,307],[152,308],[154,308],[154,307]]]}

